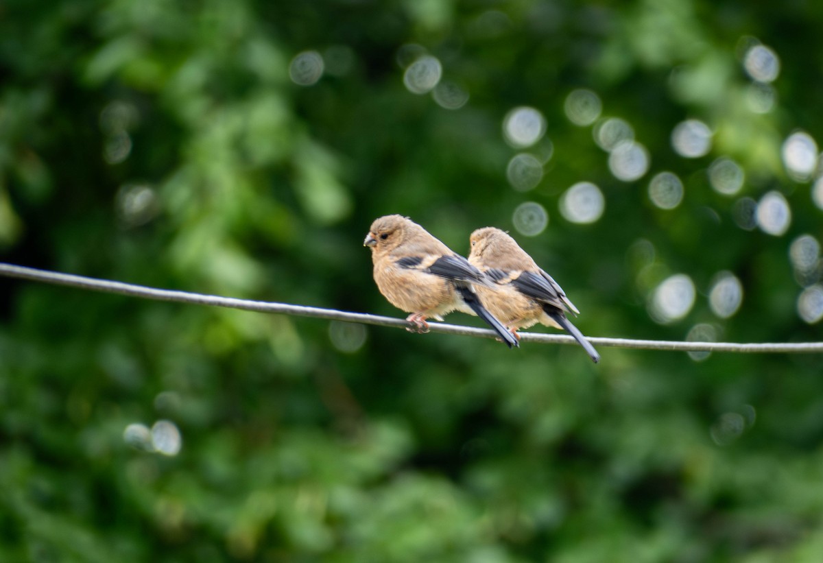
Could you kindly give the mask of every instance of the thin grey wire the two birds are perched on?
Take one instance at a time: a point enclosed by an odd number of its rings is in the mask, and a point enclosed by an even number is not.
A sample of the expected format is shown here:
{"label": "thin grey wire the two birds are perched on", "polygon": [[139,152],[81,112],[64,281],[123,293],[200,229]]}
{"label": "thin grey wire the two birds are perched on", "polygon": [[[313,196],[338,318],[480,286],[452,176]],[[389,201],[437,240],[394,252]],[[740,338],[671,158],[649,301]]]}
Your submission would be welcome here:
{"label": "thin grey wire the two birds are perched on", "polygon": [[[303,305],[288,305],[286,303],[272,303],[270,301],[253,301],[220,297],[218,295],[204,295],[188,291],[162,290],[154,287],[137,286],[122,281],[100,280],[94,277],[75,276],[61,272],[49,272],[26,268],[14,264],[0,263],[0,276],[16,277],[25,280],[43,281],[58,286],[78,287],[91,291],[104,291],[119,295],[131,295],[144,299],[158,301],[174,301],[191,305],[211,305],[213,307],[228,307],[256,311],[258,313],[291,314],[300,317],[314,317],[345,321],[347,323],[374,324],[381,327],[408,328],[405,319],[381,317],[376,314],[350,313],[336,309],[322,309],[319,307],[305,307]],[[482,338],[495,338],[496,335],[486,328],[458,326],[446,323],[430,323],[430,332],[444,334],[458,334]],[[574,338],[565,334],[520,333],[521,342],[542,342],[544,344],[576,344]],[[741,344],[735,342],[681,342],[672,340],[635,340],[631,338],[587,337],[595,346],[635,348],[644,350],[669,351],[727,351],[727,352],[788,352],[788,353],[821,353],[823,342],[781,342],[781,343],[752,343]]]}

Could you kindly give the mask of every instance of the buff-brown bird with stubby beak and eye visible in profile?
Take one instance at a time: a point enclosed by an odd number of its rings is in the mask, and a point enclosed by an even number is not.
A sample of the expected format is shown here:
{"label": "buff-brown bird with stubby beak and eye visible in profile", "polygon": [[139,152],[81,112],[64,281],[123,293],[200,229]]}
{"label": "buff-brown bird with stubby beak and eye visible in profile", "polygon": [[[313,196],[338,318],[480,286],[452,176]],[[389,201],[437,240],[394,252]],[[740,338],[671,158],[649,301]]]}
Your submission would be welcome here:
{"label": "buff-brown bird with stubby beak and eye visible in profile", "polygon": [[481,303],[477,286],[495,283],[466,258],[435,239],[423,227],[401,215],[374,220],[363,245],[371,249],[374,281],[389,303],[410,313],[407,328],[427,333],[425,319],[443,320],[453,310],[477,315],[509,347],[518,347],[518,338]]}

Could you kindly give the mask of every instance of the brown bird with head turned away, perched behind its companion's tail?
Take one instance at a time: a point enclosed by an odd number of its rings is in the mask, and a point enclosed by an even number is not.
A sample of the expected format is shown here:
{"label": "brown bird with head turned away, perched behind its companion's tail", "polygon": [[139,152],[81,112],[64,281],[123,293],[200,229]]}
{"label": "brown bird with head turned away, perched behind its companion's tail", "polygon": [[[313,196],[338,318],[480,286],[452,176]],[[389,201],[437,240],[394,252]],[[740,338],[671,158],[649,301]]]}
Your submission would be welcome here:
{"label": "brown bird with head turned away, perched behind its companion's tail", "polygon": [[469,239],[469,263],[495,281],[496,289],[478,286],[477,293],[491,314],[519,339],[520,328],[536,323],[564,329],[588,353],[594,363],[600,354],[571,323],[566,314],[579,314],[565,291],[542,270],[525,250],[506,232],[484,227],[472,232]]}

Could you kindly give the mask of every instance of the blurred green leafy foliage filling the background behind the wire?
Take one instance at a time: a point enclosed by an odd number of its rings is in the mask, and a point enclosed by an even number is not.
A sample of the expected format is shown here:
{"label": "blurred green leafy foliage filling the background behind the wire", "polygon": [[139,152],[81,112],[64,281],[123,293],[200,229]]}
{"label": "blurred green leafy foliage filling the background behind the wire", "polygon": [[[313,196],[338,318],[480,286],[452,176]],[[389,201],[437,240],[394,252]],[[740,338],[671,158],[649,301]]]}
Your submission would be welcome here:
{"label": "blurred green leafy foliage filling the background behind the wire", "polygon": [[[511,230],[591,336],[820,340],[797,310],[819,260],[798,273],[789,249],[821,209],[782,145],[823,132],[821,27],[815,2],[11,0],[0,259],[405,316],[362,248],[396,212],[463,254],[473,229]],[[752,86],[758,41],[780,70]],[[325,71],[301,86],[306,51]],[[465,105],[404,86],[421,54]],[[634,128],[642,178],[570,123],[579,88]],[[546,119],[532,147],[503,135],[519,106]],[[672,147],[685,119],[708,154]],[[506,176],[521,151],[545,160],[528,191]],[[709,183],[721,156],[746,173],[733,196]],[[649,198],[663,170],[673,209]],[[605,200],[590,224],[560,212],[581,181]],[[771,191],[785,234],[742,228],[737,202]],[[523,202],[548,215],[532,237]],[[743,288],[728,319],[721,271]],[[677,273],[694,306],[658,323]],[[600,352],[0,279],[0,559],[819,561],[820,356]]]}

